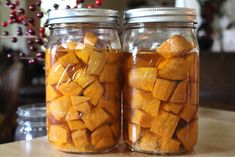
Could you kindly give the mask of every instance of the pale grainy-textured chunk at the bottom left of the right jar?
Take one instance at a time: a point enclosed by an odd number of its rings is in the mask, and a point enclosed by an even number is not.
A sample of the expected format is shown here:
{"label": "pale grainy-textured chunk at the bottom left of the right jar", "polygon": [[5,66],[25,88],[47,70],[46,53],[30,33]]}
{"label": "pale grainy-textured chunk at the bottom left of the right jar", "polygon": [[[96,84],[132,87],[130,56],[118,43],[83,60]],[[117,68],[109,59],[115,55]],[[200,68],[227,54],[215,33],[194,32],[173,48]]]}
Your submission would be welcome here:
{"label": "pale grainy-textured chunk at the bottom left of the right jar", "polygon": [[144,131],[139,146],[144,151],[154,151],[160,148],[161,143],[161,136],[150,131]]}

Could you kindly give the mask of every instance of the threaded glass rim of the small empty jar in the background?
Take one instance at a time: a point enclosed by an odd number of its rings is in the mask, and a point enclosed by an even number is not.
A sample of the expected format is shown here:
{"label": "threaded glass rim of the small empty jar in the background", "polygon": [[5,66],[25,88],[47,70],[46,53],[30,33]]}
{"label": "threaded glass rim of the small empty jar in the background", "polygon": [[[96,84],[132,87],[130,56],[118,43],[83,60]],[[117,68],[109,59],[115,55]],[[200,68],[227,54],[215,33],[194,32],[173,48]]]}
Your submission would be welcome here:
{"label": "threaded glass rim of the small empty jar in the background", "polygon": [[46,117],[46,106],[44,103],[24,105],[18,107],[16,113],[20,117]]}

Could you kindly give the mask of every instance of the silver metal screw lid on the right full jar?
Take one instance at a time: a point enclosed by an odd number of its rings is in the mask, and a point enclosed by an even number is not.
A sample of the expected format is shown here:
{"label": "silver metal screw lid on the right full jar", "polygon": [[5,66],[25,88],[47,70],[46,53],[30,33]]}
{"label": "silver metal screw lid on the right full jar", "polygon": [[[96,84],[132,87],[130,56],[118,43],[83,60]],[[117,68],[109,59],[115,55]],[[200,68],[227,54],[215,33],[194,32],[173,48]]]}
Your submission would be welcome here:
{"label": "silver metal screw lid on the right full jar", "polygon": [[191,8],[140,8],[124,13],[125,23],[190,22],[197,23],[195,9]]}

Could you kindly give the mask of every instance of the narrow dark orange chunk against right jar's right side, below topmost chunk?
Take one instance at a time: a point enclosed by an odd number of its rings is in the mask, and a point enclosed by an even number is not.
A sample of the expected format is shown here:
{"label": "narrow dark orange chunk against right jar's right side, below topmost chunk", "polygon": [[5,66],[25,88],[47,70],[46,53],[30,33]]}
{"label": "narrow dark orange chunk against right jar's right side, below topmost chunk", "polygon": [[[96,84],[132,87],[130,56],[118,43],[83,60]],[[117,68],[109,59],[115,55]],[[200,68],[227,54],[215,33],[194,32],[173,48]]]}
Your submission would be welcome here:
{"label": "narrow dark orange chunk against right jar's right side, below topmost chunk", "polygon": [[197,53],[189,54],[186,57],[189,66],[189,81],[198,82],[199,81],[199,56]]}

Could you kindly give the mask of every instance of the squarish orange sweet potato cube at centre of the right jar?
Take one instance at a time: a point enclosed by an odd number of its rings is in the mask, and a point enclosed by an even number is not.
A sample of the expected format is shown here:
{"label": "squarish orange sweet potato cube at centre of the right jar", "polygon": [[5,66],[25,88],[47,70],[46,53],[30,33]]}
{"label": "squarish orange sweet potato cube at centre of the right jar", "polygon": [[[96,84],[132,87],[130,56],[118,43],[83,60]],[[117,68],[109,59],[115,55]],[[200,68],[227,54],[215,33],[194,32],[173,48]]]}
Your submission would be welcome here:
{"label": "squarish orange sweet potato cube at centre of the right jar", "polygon": [[157,79],[153,89],[153,97],[162,101],[168,101],[172,96],[176,82],[164,79]]}

